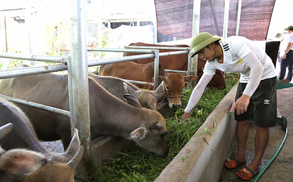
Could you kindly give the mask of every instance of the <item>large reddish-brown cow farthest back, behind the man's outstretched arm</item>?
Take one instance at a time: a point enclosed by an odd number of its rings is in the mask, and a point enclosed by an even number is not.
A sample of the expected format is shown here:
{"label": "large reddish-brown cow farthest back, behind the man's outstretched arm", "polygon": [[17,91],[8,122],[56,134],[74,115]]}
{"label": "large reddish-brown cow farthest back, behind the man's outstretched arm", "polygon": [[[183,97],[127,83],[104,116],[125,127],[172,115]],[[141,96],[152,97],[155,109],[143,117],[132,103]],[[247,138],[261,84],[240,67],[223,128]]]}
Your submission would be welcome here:
{"label": "large reddish-brown cow farthest back, behind the man's outstretched arm", "polygon": [[[137,43],[131,43],[129,46],[162,46],[162,47],[189,47],[188,45],[159,45],[159,44],[145,44],[142,42]],[[160,49],[160,52],[170,52],[170,51],[178,51],[178,50],[166,50],[166,49]],[[125,52],[123,56],[132,56],[132,55],[138,55],[143,53],[127,53]],[[154,58],[147,58],[147,59],[139,59],[139,60],[133,60],[135,63],[140,64],[146,64],[151,63],[154,61]],[[176,55],[170,55],[170,56],[161,56],[159,58],[159,62],[161,66],[166,70],[183,70],[187,71],[188,67],[188,54],[176,54]],[[200,77],[203,74],[203,67],[205,66],[206,60],[202,58],[198,58],[197,60],[197,82],[199,81]],[[220,70],[216,70],[216,73],[214,74],[212,80],[207,85],[208,87],[215,87],[218,90],[222,90],[226,88],[225,80],[224,80],[224,72]]]}

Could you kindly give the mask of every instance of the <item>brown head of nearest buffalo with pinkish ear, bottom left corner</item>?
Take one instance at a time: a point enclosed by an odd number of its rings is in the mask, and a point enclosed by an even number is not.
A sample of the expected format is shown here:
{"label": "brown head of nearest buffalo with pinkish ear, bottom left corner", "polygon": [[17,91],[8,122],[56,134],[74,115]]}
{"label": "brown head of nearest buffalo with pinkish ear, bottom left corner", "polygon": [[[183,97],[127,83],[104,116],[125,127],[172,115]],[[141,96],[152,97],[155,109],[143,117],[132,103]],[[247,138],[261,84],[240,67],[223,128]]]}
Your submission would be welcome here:
{"label": "brown head of nearest buffalo with pinkish ear, bottom left corner", "polygon": [[[0,141],[13,129],[12,123],[0,127]],[[75,129],[76,130],[76,129]],[[77,130],[75,131],[77,133]],[[74,182],[75,170],[83,155],[83,146],[68,163],[50,163],[48,158],[33,150],[11,149],[0,146],[1,182]]]}

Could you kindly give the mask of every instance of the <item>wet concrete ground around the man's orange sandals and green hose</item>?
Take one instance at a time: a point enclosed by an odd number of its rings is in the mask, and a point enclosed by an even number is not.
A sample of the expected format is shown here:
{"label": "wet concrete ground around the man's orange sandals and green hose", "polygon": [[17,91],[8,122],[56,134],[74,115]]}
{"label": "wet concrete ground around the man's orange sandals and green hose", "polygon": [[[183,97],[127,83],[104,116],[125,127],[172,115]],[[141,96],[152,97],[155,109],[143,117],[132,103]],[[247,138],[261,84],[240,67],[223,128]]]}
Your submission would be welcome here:
{"label": "wet concrete ground around the man's orange sandals and green hose", "polygon": [[[277,90],[277,107],[282,116],[287,118],[287,129],[288,134],[283,147],[281,148],[279,154],[273,160],[271,165],[259,178],[259,182],[293,182],[293,87],[286,89]],[[254,136],[255,136],[255,124],[250,122],[249,125],[249,136],[247,141],[246,156],[248,165],[254,157]],[[264,157],[262,159],[262,165],[259,170],[263,170],[268,164],[270,159],[274,157],[280,144],[282,143],[285,131],[281,129],[281,126],[277,124],[270,128],[270,139],[265,150]],[[229,156],[235,156],[237,153],[236,141],[234,141],[233,146],[230,150]],[[223,161],[224,166],[224,161]],[[242,169],[245,165],[239,166],[235,169],[227,169],[223,167],[222,174],[220,176],[219,182],[240,182],[244,181],[236,175],[236,172]],[[253,181],[249,180],[249,181]]]}

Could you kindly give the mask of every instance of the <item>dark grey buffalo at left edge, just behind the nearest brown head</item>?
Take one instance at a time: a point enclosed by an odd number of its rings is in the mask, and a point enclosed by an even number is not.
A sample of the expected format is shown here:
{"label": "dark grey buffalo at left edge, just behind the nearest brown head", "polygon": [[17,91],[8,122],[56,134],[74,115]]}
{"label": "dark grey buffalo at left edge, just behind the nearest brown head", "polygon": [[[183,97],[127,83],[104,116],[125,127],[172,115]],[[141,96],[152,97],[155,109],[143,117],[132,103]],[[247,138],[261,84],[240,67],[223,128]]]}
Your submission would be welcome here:
{"label": "dark grey buffalo at left edge, just behind the nearest brown head", "polygon": [[50,162],[52,163],[66,163],[74,157],[80,148],[80,141],[76,132],[65,153],[51,152],[41,145],[33,126],[23,111],[13,103],[0,98],[0,126],[7,123],[12,123],[14,128],[6,138],[0,141],[2,148],[5,150],[27,148],[42,153],[50,158]]}

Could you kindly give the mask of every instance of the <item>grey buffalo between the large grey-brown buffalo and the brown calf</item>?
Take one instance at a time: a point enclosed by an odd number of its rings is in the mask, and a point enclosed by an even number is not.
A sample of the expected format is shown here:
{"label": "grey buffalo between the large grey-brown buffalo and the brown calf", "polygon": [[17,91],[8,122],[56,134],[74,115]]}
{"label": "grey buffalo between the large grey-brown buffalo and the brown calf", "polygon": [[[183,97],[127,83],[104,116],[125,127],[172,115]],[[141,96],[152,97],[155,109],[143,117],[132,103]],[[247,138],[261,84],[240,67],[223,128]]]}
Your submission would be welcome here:
{"label": "grey buffalo between the large grey-brown buffalo and the brown calf", "polygon": [[101,86],[104,87],[104,89],[120,100],[125,101],[125,98],[123,97],[124,94],[133,94],[138,98],[139,103],[144,108],[149,108],[149,104],[151,107],[156,108],[158,100],[163,96],[163,84],[160,84],[155,91],[151,91],[140,89],[137,86],[117,77],[98,76],[92,73],[88,73],[88,76],[95,79]]}

